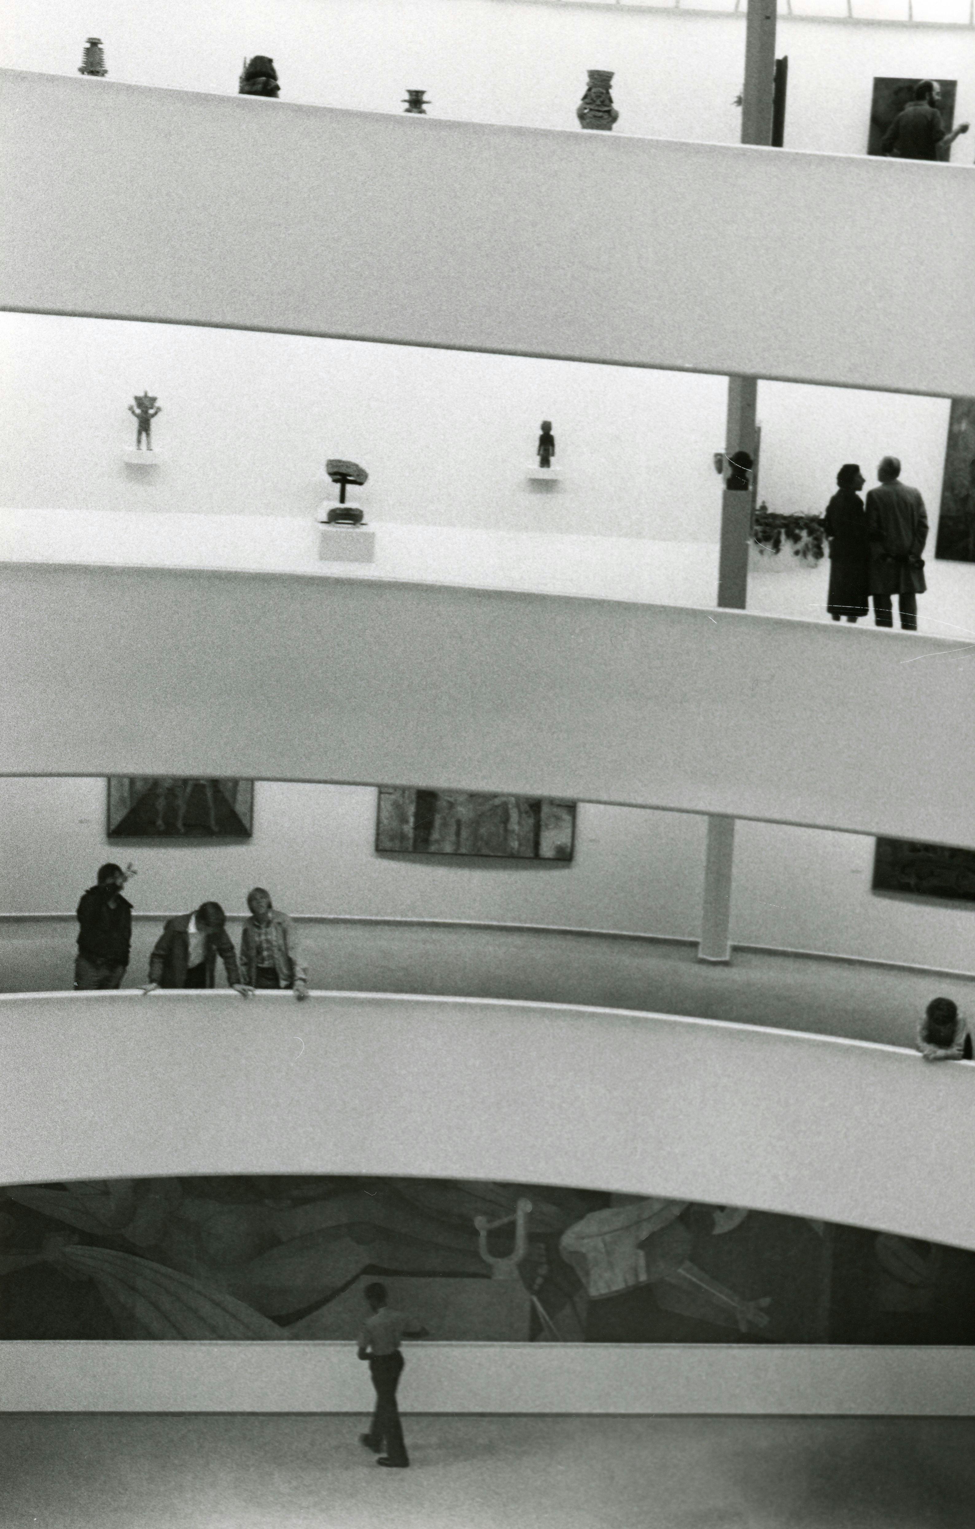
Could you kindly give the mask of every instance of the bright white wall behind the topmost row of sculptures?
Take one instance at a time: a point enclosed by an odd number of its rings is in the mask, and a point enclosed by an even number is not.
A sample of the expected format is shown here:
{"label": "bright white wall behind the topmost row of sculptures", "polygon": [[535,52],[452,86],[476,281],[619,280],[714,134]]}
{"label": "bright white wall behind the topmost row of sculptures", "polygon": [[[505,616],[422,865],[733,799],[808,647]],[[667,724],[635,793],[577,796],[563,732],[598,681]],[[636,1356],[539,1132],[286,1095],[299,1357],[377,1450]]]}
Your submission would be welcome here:
{"label": "bright white wall behind the topmost row of sculptures", "polygon": [[[79,14],[72,0],[3,0],[0,67],[73,75],[86,34],[128,84],[235,93],[241,58],[270,54],[286,101],[396,113],[422,84],[439,118],[576,130],[585,70],[613,69],[616,133],[727,144],[741,131],[743,15],[520,0],[89,0]],[[975,37],[961,28],[781,15],[776,52],[787,148],[865,153],[874,75],[958,80],[960,119],[975,116]],[[970,144],[954,159],[970,164]]]}

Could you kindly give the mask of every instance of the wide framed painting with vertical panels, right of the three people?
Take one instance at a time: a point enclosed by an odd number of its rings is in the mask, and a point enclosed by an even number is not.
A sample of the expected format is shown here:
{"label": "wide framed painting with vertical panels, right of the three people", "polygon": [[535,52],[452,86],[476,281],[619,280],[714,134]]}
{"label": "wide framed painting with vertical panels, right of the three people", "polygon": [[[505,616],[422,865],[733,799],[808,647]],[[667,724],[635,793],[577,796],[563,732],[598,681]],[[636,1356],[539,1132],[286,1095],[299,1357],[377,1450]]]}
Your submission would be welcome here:
{"label": "wide framed painting with vertical panels, right of the three people", "polygon": [[570,861],[576,804],[549,797],[381,786],[381,855],[474,855]]}

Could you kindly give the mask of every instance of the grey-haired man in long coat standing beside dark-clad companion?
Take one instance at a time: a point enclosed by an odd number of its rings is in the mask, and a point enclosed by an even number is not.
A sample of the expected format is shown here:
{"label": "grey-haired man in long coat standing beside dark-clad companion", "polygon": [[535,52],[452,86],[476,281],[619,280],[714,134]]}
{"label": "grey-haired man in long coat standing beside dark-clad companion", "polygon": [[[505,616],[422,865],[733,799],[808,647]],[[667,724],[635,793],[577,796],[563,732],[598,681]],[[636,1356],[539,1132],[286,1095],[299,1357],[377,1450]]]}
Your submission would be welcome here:
{"label": "grey-haired man in long coat standing beside dark-clad companion", "polygon": [[917,631],[917,596],[928,589],[922,552],[928,540],[928,512],[915,488],[900,482],[897,457],[883,457],[877,468],[880,488],[866,495],[870,538],[870,593],[874,621],[892,627],[892,596],[900,605],[900,625]]}

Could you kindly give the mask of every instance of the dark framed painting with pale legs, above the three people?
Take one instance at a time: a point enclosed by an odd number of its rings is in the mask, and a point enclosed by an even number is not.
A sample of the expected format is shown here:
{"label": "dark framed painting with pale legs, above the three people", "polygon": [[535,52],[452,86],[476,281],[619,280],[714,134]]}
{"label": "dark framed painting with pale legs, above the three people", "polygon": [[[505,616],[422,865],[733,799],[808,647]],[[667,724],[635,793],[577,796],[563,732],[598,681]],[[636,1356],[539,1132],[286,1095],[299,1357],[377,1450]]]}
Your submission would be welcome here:
{"label": "dark framed painting with pale legs, above the three people", "polygon": [[254,781],[226,777],[110,775],[109,838],[211,842],[249,839]]}

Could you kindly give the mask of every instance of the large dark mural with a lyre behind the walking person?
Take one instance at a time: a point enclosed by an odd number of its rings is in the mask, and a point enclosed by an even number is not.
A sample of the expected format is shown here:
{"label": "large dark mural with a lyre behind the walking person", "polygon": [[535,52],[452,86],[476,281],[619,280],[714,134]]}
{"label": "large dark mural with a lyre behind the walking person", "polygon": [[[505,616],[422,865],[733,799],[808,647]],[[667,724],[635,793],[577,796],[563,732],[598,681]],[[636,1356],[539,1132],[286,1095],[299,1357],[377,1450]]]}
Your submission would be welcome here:
{"label": "large dark mural with a lyre behind the walking person", "polygon": [[445,1179],[0,1190],[0,1338],[975,1342],[975,1254],[743,1206]]}

